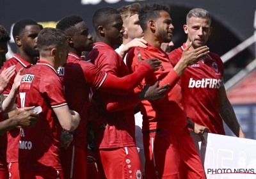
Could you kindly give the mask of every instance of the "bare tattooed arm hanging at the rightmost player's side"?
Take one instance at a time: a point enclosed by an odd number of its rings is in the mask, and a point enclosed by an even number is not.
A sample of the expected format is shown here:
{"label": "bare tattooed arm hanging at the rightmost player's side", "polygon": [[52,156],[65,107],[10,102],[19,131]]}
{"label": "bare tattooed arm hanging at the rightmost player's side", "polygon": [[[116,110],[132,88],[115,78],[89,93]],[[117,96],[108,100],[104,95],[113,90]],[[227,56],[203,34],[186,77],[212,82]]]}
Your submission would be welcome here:
{"label": "bare tattooed arm hanging at the rightmost player's side", "polygon": [[223,121],[225,121],[227,126],[230,128],[230,130],[232,130],[232,132],[237,137],[245,138],[244,132],[237,121],[234,109],[227,98],[227,93],[226,93],[225,87],[221,86],[219,88],[219,91],[220,91],[220,115],[221,115],[221,118],[223,119]]}

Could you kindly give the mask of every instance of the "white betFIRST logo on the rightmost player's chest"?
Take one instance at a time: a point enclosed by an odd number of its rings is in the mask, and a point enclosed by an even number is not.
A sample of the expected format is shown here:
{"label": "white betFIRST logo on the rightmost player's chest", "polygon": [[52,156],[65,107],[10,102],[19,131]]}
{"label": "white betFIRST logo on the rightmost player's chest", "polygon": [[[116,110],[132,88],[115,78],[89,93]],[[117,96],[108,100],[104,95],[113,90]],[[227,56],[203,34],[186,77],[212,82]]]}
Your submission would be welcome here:
{"label": "white betFIRST logo on the rightmost player's chest", "polygon": [[190,78],[188,88],[220,88],[221,84],[221,79],[202,79],[195,81],[193,78]]}

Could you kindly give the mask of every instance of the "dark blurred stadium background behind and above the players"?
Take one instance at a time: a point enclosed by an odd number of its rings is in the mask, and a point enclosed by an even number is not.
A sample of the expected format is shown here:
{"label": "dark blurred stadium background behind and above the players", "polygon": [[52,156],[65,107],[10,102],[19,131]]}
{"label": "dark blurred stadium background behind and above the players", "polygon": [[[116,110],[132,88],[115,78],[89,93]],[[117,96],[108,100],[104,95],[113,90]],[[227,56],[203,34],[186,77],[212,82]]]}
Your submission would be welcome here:
{"label": "dark blurred stadium background behind and above the players", "polygon": [[[156,3],[153,0],[1,0],[0,25],[12,35],[15,22],[23,18],[36,20],[43,27],[55,27],[61,18],[81,15],[94,35],[93,13],[103,6],[120,8],[132,3]],[[183,25],[192,8],[203,8],[211,13],[212,34],[207,46],[221,56],[225,64],[225,88],[241,127],[249,139],[256,139],[256,1],[255,0],[158,0],[170,6],[170,16],[175,27],[173,49],[186,42]],[[16,52],[15,43],[9,43],[7,59]],[[225,126],[228,136],[234,136]]]}

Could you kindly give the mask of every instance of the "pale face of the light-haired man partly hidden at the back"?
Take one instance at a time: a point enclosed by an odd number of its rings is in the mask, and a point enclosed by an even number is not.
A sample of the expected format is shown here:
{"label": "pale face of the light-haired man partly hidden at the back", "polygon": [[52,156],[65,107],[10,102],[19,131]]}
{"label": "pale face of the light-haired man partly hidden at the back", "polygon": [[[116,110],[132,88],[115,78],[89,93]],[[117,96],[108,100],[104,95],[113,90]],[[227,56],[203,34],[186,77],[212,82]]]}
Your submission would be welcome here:
{"label": "pale face of the light-haired man partly hidden at the back", "polygon": [[127,19],[124,27],[129,39],[141,38],[143,36],[143,31],[140,27],[139,15],[134,14]]}

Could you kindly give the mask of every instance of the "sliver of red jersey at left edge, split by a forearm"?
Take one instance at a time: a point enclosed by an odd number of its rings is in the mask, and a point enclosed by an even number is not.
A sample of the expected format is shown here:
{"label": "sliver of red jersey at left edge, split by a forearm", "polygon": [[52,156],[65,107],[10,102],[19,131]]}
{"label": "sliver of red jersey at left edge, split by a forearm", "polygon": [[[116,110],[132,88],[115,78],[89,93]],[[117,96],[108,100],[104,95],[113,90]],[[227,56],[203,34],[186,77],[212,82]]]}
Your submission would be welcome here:
{"label": "sliver of red jersey at left edge, split by a forearm", "polygon": [[[0,122],[4,121],[2,100],[0,96]],[[7,148],[7,135],[0,135],[0,170],[5,170],[7,168],[6,162],[6,148]]]}

